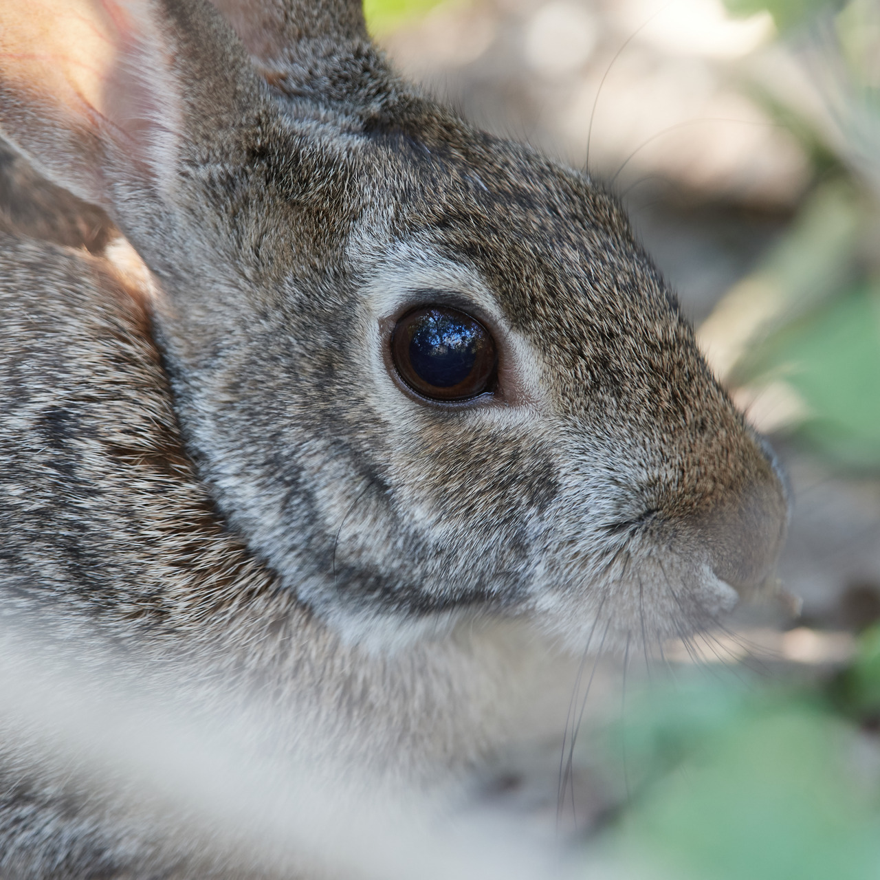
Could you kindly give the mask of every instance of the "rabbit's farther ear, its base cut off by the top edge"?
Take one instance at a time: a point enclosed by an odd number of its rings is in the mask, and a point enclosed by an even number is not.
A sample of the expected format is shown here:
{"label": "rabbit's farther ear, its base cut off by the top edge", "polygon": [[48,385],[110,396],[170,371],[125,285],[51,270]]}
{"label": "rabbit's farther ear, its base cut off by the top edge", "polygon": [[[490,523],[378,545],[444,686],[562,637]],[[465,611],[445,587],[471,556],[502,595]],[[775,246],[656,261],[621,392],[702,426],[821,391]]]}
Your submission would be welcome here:
{"label": "rabbit's farther ear, its base cut off by the top edge", "polygon": [[211,0],[258,67],[283,64],[304,41],[368,40],[360,0]]}

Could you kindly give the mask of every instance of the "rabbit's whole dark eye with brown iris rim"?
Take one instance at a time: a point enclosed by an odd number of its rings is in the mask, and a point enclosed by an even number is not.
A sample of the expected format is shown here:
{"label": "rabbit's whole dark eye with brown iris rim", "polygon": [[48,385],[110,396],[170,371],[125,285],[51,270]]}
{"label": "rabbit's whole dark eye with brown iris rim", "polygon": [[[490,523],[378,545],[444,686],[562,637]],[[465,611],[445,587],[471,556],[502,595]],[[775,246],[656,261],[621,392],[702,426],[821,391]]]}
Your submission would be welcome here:
{"label": "rabbit's whole dark eye with brown iris rim", "polygon": [[434,400],[467,400],[491,391],[495,342],[464,312],[428,305],[408,312],[394,327],[394,366],[414,391]]}

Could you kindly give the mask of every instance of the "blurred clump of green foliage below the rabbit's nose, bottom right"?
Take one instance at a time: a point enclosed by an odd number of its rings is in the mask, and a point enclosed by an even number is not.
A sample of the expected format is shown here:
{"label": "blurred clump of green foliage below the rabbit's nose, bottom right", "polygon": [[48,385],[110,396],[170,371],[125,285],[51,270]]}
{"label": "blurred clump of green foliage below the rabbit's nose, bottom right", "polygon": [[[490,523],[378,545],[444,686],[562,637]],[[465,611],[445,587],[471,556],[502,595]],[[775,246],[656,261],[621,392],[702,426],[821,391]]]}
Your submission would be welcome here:
{"label": "blurred clump of green foliage below the rabbit's nose, bottom right", "polygon": [[634,700],[607,745],[631,791],[605,840],[615,860],[676,880],[880,876],[880,767],[835,708],[844,692],[857,722],[880,708],[880,630],[840,681],[832,700],[694,675]]}

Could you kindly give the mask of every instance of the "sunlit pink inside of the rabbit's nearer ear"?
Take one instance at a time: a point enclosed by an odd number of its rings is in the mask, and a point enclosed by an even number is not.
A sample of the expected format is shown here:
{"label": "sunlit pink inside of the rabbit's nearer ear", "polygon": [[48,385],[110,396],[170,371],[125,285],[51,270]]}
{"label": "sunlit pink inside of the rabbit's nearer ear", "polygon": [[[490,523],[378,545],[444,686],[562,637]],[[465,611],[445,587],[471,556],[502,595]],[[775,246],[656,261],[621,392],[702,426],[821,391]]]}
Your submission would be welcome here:
{"label": "sunlit pink inside of the rabbit's nearer ear", "polygon": [[138,176],[166,177],[173,163],[173,47],[155,5],[0,0],[0,128],[89,201],[106,203],[108,152]]}

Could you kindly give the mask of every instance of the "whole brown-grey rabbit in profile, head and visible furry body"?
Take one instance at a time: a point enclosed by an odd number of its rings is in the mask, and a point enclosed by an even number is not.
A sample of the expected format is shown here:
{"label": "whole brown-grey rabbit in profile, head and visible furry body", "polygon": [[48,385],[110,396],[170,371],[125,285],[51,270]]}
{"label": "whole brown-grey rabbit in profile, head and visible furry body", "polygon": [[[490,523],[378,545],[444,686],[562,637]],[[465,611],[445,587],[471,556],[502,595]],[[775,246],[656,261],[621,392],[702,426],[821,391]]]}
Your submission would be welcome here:
{"label": "whole brown-grey rabbit in profile, head and visible furry body", "polygon": [[[359,4],[0,24],[6,165],[91,212],[0,231],[4,615],[426,781],[502,736],[522,628],[662,641],[770,583],[784,475],[619,203]],[[192,876],[9,743],[0,874]]]}

